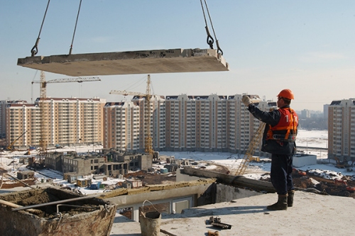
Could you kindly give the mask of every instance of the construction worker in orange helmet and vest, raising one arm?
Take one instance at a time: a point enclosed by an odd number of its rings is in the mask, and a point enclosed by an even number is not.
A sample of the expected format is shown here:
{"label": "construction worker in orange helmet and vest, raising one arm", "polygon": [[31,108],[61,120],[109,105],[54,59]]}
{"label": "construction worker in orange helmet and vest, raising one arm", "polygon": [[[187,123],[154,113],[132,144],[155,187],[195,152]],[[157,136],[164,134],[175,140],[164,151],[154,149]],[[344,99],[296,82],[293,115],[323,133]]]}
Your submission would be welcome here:
{"label": "construction worker in orange helmet and vest, raising one arm", "polygon": [[255,118],[266,123],[261,151],[271,153],[271,183],[278,193],[278,202],[268,206],[268,210],[287,210],[293,206],[295,189],[292,162],[296,149],[298,116],[290,108],[292,99],[293,92],[283,89],[278,94],[278,109],[269,112],[257,108],[247,95],[241,99]]}

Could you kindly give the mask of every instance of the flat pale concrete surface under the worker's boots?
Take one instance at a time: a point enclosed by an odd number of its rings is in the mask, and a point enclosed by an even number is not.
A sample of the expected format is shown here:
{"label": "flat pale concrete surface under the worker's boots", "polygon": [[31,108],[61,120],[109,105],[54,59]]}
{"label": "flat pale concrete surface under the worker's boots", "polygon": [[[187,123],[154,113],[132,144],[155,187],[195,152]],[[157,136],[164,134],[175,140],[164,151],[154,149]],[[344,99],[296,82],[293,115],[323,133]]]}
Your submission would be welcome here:
{"label": "flat pale concrete surface under the worker's boots", "polygon": [[[207,235],[219,231],[229,235],[354,235],[355,199],[296,191],[295,202],[288,210],[271,211],[276,194],[241,198],[184,210],[182,214],[162,214],[160,235]],[[210,216],[232,225],[230,230],[206,224]],[[141,227],[122,215],[116,215],[111,236],[138,236]]]}

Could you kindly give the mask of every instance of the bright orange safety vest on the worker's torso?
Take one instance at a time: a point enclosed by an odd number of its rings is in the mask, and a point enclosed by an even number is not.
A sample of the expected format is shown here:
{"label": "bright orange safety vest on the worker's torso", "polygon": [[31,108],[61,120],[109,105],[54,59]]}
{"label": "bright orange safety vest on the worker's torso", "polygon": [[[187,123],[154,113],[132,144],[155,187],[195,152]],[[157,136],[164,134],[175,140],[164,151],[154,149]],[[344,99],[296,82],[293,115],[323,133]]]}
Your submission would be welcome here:
{"label": "bright orange safety vest on the worker's torso", "polygon": [[266,140],[295,142],[297,135],[298,116],[291,108],[280,108],[280,121],[277,125],[269,125]]}

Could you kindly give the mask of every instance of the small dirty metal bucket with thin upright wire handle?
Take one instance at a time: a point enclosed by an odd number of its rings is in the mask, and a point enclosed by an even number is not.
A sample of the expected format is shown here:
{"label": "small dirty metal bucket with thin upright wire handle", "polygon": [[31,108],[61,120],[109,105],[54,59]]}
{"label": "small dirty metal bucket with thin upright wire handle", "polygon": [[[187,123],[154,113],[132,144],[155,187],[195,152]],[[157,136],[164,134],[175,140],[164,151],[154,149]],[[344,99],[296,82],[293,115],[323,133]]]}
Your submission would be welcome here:
{"label": "small dirty metal bucket with thin upright wire handle", "polygon": [[151,205],[155,208],[155,211],[144,213],[144,203],[146,203],[146,201],[143,202],[142,211],[139,213],[139,222],[141,223],[141,234],[142,236],[159,236],[161,214],[150,201],[149,203],[151,203]]}

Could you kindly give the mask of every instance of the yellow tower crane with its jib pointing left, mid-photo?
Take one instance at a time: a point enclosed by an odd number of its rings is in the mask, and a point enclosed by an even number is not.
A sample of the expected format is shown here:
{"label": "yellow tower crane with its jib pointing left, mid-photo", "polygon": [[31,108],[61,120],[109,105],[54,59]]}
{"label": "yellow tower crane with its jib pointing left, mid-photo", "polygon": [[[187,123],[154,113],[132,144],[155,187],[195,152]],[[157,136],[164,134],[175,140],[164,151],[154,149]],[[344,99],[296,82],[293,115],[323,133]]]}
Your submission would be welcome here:
{"label": "yellow tower crane with its jib pointing left, mid-photo", "polygon": [[146,128],[146,135],[144,138],[144,151],[148,154],[151,154],[152,157],[154,158],[154,150],[153,150],[153,140],[151,137],[151,75],[148,74],[148,79],[147,79],[147,88],[146,88],[146,94],[142,94],[139,92],[133,92],[133,91],[126,91],[126,90],[111,90],[109,94],[121,94],[124,96],[127,95],[133,95],[133,96],[143,96],[146,101],[144,103],[145,105],[145,112],[144,112],[144,123],[145,123],[145,128]]}

